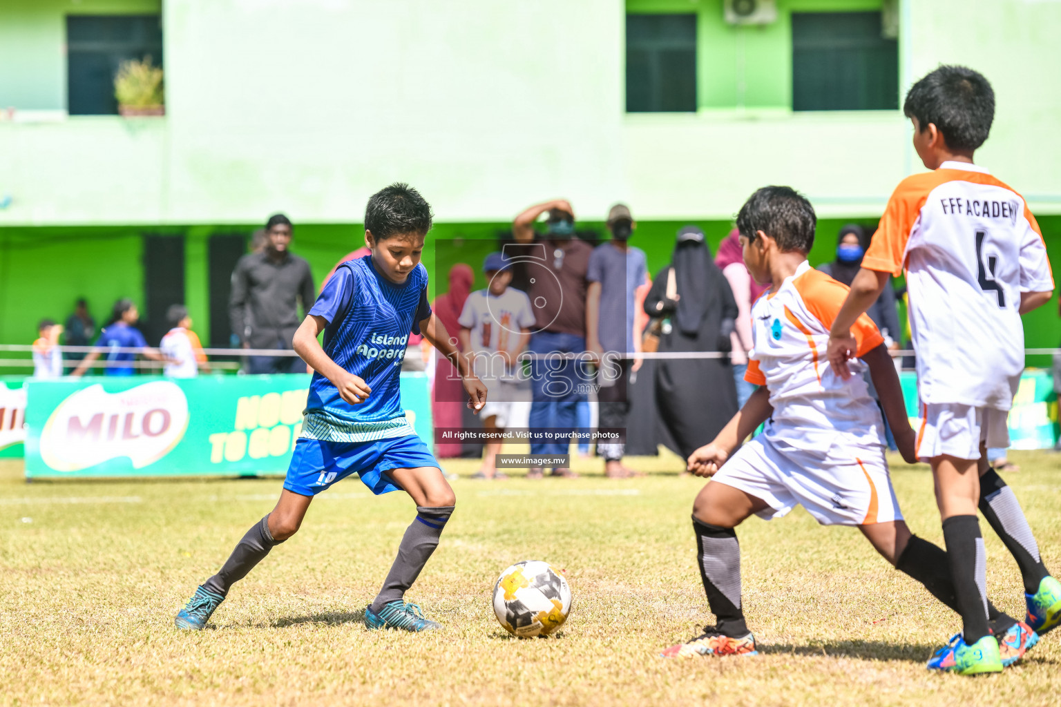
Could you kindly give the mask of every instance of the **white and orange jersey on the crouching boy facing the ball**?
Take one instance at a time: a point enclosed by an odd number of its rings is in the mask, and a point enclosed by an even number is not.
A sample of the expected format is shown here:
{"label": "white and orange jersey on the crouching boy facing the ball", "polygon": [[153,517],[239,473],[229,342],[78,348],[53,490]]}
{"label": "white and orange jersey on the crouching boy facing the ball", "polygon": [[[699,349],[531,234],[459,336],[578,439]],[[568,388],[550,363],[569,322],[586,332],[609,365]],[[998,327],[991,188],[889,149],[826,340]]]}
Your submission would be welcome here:
{"label": "white and orange jersey on the crouching boy facing the ball", "polygon": [[[752,305],[753,348],[745,379],[770,391],[767,438],[815,450],[838,441],[884,444],[881,411],[862,375],[866,364],[852,360],[845,381],[825,356],[829,330],[847,296],[847,286],[803,261],[777,293],[763,294]],[[865,314],[851,331],[859,356],[884,342]]]}

